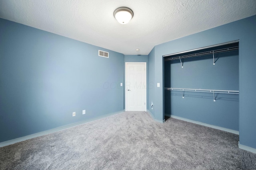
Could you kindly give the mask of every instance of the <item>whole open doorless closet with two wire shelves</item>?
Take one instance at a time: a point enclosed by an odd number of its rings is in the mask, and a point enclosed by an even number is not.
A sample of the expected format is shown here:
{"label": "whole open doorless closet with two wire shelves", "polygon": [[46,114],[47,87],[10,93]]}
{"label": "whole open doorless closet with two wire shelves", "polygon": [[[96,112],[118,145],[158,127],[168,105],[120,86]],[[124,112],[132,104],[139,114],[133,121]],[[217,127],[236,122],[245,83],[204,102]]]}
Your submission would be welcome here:
{"label": "whole open doorless closet with two wire shelves", "polygon": [[238,134],[239,40],[164,55],[165,116]]}

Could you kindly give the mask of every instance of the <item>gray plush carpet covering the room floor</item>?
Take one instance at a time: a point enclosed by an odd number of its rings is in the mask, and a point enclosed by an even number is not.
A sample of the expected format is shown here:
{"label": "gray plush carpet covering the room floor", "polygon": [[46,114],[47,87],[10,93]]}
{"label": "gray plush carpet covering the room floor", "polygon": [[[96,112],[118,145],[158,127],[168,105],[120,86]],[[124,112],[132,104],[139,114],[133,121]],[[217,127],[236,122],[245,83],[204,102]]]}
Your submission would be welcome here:
{"label": "gray plush carpet covering the room floor", "polygon": [[238,135],[124,112],[0,148],[0,169],[256,169]]}

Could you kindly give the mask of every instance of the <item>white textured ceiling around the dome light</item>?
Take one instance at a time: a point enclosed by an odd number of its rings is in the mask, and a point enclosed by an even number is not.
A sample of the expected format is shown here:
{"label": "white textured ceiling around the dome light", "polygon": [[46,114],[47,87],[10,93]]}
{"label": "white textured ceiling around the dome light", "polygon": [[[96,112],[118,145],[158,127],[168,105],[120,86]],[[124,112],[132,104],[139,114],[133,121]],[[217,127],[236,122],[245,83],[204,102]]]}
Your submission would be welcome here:
{"label": "white textured ceiling around the dome light", "polygon": [[[134,12],[126,25],[121,6]],[[0,18],[124,55],[253,15],[256,0],[0,0]]]}

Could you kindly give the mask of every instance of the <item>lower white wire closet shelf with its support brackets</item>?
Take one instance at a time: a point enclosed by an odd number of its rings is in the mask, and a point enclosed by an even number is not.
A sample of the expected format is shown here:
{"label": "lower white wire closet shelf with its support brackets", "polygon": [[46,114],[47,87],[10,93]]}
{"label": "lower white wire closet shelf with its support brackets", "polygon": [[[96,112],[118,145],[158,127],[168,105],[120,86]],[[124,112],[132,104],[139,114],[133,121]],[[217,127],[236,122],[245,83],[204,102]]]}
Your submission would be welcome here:
{"label": "lower white wire closet shelf with its support brackets", "polygon": [[209,89],[193,89],[193,88],[164,88],[164,90],[180,91],[182,94],[182,98],[184,98],[184,92],[212,93],[214,102],[215,102],[215,93],[239,94],[238,90],[209,90]]}

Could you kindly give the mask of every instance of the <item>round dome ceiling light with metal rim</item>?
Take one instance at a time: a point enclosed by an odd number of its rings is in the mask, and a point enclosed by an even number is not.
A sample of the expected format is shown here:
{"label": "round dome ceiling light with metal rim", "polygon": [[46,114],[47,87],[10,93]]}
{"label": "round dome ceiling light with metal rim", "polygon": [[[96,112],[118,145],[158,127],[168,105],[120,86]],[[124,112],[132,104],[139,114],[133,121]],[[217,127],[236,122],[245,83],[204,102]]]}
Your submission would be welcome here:
{"label": "round dome ceiling light with metal rim", "polygon": [[114,17],[119,23],[126,24],[132,19],[133,12],[130,8],[120,7],[114,11]]}

